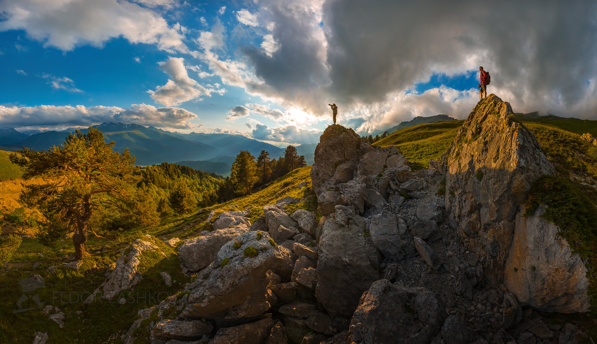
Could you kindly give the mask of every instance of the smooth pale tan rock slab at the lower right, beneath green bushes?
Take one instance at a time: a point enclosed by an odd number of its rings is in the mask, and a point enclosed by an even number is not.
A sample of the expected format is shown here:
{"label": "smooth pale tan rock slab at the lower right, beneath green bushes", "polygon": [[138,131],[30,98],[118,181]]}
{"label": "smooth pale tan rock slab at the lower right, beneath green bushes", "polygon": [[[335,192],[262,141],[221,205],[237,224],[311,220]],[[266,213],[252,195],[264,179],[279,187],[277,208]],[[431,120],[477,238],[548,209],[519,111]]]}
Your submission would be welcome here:
{"label": "smooth pale tan rock slab at the lower right, beneath green bushes", "polygon": [[504,268],[504,284],[522,304],[545,312],[584,312],[589,309],[587,268],[573,254],[559,228],[524,208],[516,218],[512,248]]}

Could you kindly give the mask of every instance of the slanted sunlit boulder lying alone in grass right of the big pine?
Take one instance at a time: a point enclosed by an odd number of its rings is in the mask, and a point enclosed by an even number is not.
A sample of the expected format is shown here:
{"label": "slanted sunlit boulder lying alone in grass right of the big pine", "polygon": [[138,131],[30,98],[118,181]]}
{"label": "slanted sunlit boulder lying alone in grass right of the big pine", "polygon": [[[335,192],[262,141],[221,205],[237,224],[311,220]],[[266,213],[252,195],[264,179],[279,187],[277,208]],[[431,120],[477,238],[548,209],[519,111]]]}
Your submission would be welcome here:
{"label": "slanted sunlit boulder lying alone in grass right of the big pine", "polygon": [[[93,302],[96,295],[105,300],[112,299],[123,290],[133,289],[137,283],[141,282],[143,274],[141,274],[138,267],[141,259],[143,259],[143,252],[150,250],[159,251],[158,246],[155,245],[153,240],[152,236],[144,235],[142,238],[134,240],[127,249],[122,251],[114,269],[107,275],[106,281],[85,299],[85,303],[89,304]],[[161,252],[161,254],[165,257],[164,252]]]}

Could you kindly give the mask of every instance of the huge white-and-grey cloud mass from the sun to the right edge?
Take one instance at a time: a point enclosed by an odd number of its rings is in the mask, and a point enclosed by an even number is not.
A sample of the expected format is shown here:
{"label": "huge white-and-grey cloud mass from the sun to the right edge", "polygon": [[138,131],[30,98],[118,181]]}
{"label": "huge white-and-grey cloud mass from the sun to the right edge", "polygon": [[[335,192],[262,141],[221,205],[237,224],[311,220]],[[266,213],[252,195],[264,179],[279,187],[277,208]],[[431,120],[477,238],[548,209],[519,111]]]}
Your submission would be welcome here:
{"label": "huge white-and-grey cloud mass from the sun to the right edge", "polygon": [[[224,84],[287,109],[324,117],[330,115],[327,104],[336,102],[344,123],[368,132],[414,115],[462,118],[476,102],[476,83],[459,89],[434,85],[421,94],[413,89],[437,74],[476,76],[483,65],[492,75],[489,91],[515,111],[597,115],[595,1],[256,4],[253,12],[236,16],[244,30],[263,37],[259,46],[241,45],[220,57],[215,47],[226,45],[200,45],[201,58]],[[226,40],[218,29],[212,32]]]}

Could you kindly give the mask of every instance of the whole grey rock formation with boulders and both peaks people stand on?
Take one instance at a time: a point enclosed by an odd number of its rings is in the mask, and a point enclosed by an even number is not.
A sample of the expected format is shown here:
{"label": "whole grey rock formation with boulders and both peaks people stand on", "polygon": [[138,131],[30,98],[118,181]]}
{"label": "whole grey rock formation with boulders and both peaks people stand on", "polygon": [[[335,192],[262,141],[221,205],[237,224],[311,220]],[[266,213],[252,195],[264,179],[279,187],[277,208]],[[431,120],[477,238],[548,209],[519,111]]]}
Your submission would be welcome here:
{"label": "whole grey rock formation with boulders and both peaks people stand on", "polygon": [[[177,246],[193,282],[141,310],[125,342],[147,327],[159,344],[576,343],[576,327],[540,312],[587,311],[586,267],[544,207],[523,216],[521,198],[554,170],[514,118],[488,96],[417,171],[329,126],[311,170],[321,214],[286,201],[254,223],[220,214]],[[119,259],[104,295],[134,284],[118,277],[134,259]]]}

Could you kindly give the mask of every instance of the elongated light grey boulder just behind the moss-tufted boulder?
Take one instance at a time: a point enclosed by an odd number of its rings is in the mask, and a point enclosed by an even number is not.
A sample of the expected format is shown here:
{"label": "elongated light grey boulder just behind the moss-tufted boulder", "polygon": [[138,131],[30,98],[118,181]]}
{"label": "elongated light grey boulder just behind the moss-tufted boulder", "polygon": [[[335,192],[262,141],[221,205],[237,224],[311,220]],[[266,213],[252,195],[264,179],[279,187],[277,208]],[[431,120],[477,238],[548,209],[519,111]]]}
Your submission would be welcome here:
{"label": "elongated light grey boulder just behind the moss-tufted boulder", "polygon": [[183,271],[197,272],[204,269],[214,261],[224,243],[248,232],[248,230],[246,226],[220,229],[186,240],[183,245],[179,246],[179,259]]}

